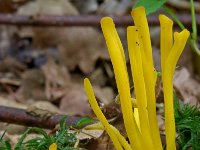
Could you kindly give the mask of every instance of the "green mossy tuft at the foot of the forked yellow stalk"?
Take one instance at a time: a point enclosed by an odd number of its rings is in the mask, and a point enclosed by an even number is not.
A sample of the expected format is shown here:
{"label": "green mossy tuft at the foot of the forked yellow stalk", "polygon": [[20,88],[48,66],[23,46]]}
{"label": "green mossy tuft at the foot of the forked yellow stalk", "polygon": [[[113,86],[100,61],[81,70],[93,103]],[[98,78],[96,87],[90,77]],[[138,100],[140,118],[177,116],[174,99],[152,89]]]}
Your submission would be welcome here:
{"label": "green mossy tuft at the foot of the forked yellow stalk", "polygon": [[200,107],[183,104],[174,96],[178,150],[200,149]]}

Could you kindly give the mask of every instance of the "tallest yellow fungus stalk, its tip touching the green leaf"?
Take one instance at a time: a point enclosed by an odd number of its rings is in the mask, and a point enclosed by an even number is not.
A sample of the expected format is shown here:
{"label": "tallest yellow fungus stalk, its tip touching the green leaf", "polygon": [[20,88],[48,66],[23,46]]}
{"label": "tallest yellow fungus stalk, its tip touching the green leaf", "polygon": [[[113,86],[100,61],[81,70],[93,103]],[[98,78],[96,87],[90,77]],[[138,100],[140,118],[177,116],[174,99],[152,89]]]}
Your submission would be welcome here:
{"label": "tallest yellow fungus stalk, its tip touching the green leaf", "polygon": [[[139,37],[139,47],[142,57],[142,69],[143,76],[145,81],[146,88],[146,97],[147,97],[147,111],[149,117],[149,127],[151,132],[151,137],[153,144],[156,149],[161,149],[161,139],[158,128],[158,122],[156,117],[156,98],[155,98],[155,77],[154,77],[154,65],[152,57],[152,47],[150,40],[150,33],[148,22],[145,14],[145,9],[143,7],[138,7],[132,11],[132,17],[135,23],[135,26],[138,30]],[[130,60],[134,59],[130,57]]]}

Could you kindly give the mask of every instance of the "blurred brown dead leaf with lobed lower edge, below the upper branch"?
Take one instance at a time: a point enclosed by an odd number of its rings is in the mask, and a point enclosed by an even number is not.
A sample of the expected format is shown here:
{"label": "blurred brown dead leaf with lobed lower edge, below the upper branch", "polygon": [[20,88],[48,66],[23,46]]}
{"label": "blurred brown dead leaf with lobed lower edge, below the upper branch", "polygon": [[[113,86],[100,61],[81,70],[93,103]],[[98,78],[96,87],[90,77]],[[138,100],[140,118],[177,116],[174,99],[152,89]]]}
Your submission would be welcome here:
{"label": "blurred brown dead leaf with lobed lower edge, below the upper branch", "polygon": [[98,58],[109,58],[102,35],[93,28],[70,27],[63,33],[70,36],[59,45],[59,50],[62,62],[69,70],[78,66],[84,73],[90,73]]}

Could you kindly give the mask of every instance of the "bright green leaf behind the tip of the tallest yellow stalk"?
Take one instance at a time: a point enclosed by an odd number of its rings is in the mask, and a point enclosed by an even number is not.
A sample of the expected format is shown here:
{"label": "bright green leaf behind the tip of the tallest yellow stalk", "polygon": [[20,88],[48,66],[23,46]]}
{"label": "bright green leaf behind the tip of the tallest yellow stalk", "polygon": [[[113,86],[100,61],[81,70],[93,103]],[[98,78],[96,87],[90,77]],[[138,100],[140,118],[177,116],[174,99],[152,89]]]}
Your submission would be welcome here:
{"label": "bright green leaf behind the tip of the tallest yellow stalk", "polygon": [[146,14],[155,12],[158,10],[167,0],[138,0],[133,8],[143,6],[146,10]]}

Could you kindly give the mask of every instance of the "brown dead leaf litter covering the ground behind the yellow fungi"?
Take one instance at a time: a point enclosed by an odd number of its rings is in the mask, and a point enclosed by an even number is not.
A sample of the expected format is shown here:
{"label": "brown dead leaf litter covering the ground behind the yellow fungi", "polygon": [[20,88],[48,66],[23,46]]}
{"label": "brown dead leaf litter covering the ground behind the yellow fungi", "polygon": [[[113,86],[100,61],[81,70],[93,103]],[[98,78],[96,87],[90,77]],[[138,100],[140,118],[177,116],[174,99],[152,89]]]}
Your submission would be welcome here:
{"label": "brown dead leaf litter covering the ground behind the yellow fungi", "polygon": [[[73,0],[72,0],[73,1]],[[69,2],[66,0],[24,0],[13,9],[8,3],[6,12],[36,17],[39,15],[82,15],[129,13],[129,0],[92,2]],[[178,0],[177,0],[178,1]],[[169,2],[171,3],[171,2]],[[87,5],[86,5],[87,4]],[[90,7],[90,4],[92,5]],[[12,7],[11,7],[12,6]],[[94,7],[95,6],[95,7]],[[178,6],[176,6],[178,7]],[[79,8],[79,9],[77,9]],[[92,8],[92,9],[91,9]],[[113,9],[115,8],[115,9]],[[152,43],[155,49],[155,66],[159,69],[159,28],[154,27]],[[124,29],[120,30],[126,41]],[[80,36],[81,35],[81,36]],[[99,29],[93,27],[7,27],[0,28],[0,105],[27,109],[29,113],[46,115],[46,111],[78,116],[93,116],[83,89],[83,78],[90,76],[95,85],[95,94],[107,116],[125,134],[119,106],[114,103],[117,95],[112,68],[104,39]],[[126,43],[123,43],[126,45]],[[200,83],[194,78],[190,47],[179,62],[174,87],[184,103],[199,104]],[[183,66],[183,67],[182,67]],[[186,68],[184,68],[186,67]],[[158,120],[164,134],[162,113],[162,89],[158,96]],[[116,113],[117,112],[117,113]],[[16,145],[27,127],[0,123],[1,134]],[[46,130],[48,133],[51,131]],[[88,149],[114,149],[103,131],[79,131],[79,140],[89,140]],[[92,132],[92,133],[90,133]],[[86,134],[84,134],[86,133]],[[88,134],[92,136],[88,137]],[[28,134],[28,138],[38,134]],[[93,137],[91,139],[91,137]]]}

